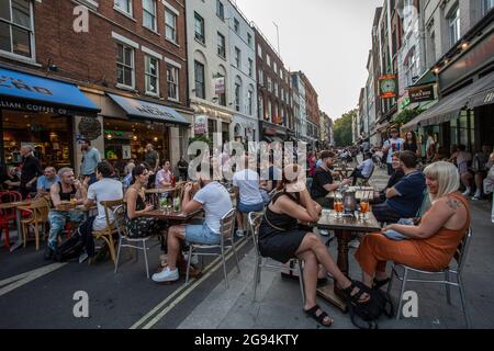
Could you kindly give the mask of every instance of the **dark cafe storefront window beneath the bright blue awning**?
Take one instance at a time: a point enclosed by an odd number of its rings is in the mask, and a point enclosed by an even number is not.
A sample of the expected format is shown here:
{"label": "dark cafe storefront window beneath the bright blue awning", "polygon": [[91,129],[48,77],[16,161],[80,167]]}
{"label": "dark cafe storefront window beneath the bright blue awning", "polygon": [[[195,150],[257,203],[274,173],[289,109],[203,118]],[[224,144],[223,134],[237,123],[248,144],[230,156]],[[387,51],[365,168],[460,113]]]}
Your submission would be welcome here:
{"label": "dark cafe storefront window beneath the bright blue awning", "polygon": [[3,158],[8,166],[22,161],[20,148],[30,145],[42,167],[72,167],[71,118],[53,114],[2,111]]}

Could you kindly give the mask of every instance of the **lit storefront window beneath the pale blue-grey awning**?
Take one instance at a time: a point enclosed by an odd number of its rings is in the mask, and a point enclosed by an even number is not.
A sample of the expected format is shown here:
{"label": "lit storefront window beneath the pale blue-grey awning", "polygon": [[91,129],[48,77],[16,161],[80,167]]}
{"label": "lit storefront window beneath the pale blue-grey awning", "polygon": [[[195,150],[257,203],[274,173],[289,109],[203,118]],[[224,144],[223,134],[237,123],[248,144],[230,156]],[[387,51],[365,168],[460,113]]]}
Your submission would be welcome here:
{"label": "lit storefront window beneath the pale blue-grey awning", "polygon": [[153,144],[160,160],[168,159],[168,127],[159,122],[104,118],[104,158],[120,172],[131,158],[144,161],[147,144]]}

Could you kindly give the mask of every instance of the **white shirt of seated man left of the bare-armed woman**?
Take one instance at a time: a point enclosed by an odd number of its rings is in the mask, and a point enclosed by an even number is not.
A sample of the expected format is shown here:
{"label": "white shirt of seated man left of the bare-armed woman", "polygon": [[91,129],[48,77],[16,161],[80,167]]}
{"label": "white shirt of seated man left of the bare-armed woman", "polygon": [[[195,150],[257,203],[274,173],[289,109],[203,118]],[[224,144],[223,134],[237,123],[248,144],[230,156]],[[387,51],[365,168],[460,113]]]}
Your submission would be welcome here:
{"label": "white shirt of seated man left of the bare-armed woman", "polygon": [[[117,180],[103,178],[91,184],[88,189],[88,200],[93,200],[98,205],[98,216],[92,225],[93,230],[103,230],[106,228],[106,215],[102,201],[115,201],[123,199],[122,183]],[[110,219],[113,222],[113,214],[110,212]]]}

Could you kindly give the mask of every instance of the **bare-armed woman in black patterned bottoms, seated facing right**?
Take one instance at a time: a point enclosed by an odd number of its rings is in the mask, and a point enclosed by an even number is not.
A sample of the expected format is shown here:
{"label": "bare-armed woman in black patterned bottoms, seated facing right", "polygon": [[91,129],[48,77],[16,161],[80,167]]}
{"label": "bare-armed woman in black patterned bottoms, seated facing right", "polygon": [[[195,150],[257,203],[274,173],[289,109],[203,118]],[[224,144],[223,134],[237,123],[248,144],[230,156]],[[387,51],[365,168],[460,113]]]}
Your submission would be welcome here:
{"label": "bare-armed woman in black patterned bottoms, seated facing right", "polygon": [[153,211],[153,205],[146,205],[145,185],[149,181],[149,172],[143,166],[136,166],[132,171],[132,185],[125,193],[125,226],[131,238],[145,238],[161,235],[166,225],[156,218],[146,217]]}

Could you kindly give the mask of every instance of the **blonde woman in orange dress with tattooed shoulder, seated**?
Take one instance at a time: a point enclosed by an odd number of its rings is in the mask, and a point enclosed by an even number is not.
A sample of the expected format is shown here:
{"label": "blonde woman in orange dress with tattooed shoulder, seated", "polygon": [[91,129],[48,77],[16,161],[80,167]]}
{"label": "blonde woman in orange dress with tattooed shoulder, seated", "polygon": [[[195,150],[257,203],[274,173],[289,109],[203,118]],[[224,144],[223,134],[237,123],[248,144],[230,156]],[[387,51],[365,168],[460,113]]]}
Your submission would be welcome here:
{"label": "blonde woman in orange dress with tattooed shoulder, seated", "polygon": [[379,288],[389,282],[386,261],[427,271],[447,268],[470,227],[469,204],[458,192],[460,177],[454,165],[439,161],[428,166],[424,174],[433,205],[420,224],[393,224],[383,229],[398,231],[407,240],[394,241],[383,233],[371,234],[355,253],[369,287]]}

